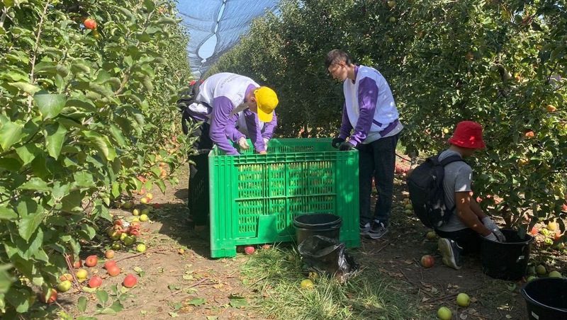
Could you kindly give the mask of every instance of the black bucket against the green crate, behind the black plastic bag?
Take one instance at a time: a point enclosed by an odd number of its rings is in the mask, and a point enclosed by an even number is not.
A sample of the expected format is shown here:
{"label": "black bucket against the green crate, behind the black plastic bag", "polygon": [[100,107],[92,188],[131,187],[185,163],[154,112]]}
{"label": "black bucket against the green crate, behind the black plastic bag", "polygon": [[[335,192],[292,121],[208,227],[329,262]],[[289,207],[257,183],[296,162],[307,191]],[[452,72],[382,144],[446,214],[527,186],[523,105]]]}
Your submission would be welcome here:
{"label": "black bucket against the green crate, behind the black plastic bag", "polygon": [[342,218],[330,213],[298,215],[293,218],[297,244],[301,244],[309,236],[326,236],[339,241],[341,225]]}

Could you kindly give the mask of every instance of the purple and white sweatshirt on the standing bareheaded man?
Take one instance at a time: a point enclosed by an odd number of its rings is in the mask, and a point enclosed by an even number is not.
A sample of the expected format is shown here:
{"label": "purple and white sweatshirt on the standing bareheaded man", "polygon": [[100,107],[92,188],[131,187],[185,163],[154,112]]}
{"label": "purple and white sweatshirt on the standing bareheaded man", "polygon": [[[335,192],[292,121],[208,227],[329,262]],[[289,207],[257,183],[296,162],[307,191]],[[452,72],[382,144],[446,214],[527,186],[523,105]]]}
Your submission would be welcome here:
{"label": "purple and white sweatshirt on the standing bareheaded man", "polygon": [[398,120],[398,109],[386,79],[378,70],[366,66],[355,67],[354,74],[354,81],[343,82],[344,107],[339,137],[349,137],[349,142],[357,146],[398,134],[403,125]]}

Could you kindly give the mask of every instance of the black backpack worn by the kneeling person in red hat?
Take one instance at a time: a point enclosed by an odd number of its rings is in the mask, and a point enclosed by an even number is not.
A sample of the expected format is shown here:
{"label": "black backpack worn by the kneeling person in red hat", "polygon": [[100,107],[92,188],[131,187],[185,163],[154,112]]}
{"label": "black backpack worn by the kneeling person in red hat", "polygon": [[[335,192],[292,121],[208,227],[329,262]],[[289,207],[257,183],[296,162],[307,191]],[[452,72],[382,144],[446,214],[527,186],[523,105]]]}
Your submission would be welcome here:
{"label": "black backpack worn by the kneeling person in red hat", "polygon": [[448,208],[445,202],[443,177],[445,166],[455,161],[464,160],[457,155],[448,156],[442,161],[439,161],[439,155],[430,156],[408,176],[413,211],[425,227],[441,227],[454,212],[455,207]]}

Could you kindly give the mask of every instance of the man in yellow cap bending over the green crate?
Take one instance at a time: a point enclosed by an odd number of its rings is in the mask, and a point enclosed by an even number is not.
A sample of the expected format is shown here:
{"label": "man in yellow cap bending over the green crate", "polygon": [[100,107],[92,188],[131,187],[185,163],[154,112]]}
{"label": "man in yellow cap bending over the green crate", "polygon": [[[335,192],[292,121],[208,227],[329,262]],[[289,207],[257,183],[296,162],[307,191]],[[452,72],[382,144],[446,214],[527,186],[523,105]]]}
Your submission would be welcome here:
{"label": "man in yellow cap bending over the green crate", "polygon": [[[194,96],[183,104],[186,106],[182,112],[184,121],[200,123],[196,130],[186,133],[196,138],[193,142],[196,154],[189,156],[189,215],[194,224],[201,225],[206,224],[209,212],[208,152],[216,144],[227,155],[239,155],[227,137],[227,132],[235,129],[238,113],[249,110],[259,121],[271,122],[278,97],[271,88],[228,72],[213,74],[193,92]],[[255,133],[259,129],[254,127],[250,131]],[[254,147],[257,153],[266,154],[263,139]]]}

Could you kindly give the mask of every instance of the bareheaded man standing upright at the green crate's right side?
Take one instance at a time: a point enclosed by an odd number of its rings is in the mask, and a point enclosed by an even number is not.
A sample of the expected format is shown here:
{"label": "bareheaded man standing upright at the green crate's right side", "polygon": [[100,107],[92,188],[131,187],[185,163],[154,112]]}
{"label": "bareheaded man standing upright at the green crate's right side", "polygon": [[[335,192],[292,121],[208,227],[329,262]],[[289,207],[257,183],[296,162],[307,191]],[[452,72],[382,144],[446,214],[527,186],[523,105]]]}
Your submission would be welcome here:
{"label": "bareheaded man standing upright at the green crate's right side", "polygon": [[[390,86],[376,69],[355,65],[346,52],[336,49],[327,53],[325,67],[333,78],[343,81],[344,92],[341,128],[332,146],[359,151],[360,234],[380,239],[388,231],[395,147],[403,125]],[[378,200],[371,215],[373,177]]]}

